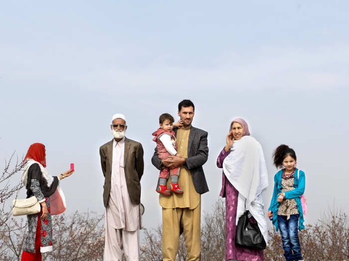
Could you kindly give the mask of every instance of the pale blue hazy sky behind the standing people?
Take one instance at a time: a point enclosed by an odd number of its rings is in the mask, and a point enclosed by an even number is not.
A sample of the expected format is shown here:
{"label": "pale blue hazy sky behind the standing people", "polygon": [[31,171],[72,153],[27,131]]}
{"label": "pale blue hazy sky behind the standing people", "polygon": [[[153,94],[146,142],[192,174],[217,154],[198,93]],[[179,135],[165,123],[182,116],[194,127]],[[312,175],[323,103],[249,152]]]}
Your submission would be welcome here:
{"label": "pale blue hazy sky behind the standing people", "polygon": [[[144,148],[143,225],[161,223],[151,163],[159,115],[178,119],[195,104],[193,126],[208,132],[203,166],[219,199],[216,158],[232,119],[262,145],[273,188],[272,154],[296,151],[306,173],[307,224],[329,206],[348,213],[348,1],[3,1],[0,8],[0,167],[30,144],[46,146],[67,213],[104,213],[99,147],[114,113]],[[18,182],[21,174],[11,182]],[[24,197],[24,189],[21,196]]]}

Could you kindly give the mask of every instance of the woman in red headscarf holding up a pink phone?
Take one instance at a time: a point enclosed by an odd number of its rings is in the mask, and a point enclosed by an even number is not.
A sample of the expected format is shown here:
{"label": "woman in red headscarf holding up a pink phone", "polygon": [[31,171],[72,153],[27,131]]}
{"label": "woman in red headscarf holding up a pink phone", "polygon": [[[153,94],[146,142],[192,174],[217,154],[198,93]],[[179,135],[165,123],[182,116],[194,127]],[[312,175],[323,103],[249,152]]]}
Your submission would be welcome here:
{"label": "woman in red headscarf holding up a pink phone", "polygon": [[22,182],[27,190],[27,198],[34,195],[39,200],[41,210],[38,214],[27,215],[28,235],[24,241],[21,261],[41,261],[41,253],[52,251],[51,215],[65,210],[65,198],[59,180],[74,171],[50,176],[45,167],[45,146],[41,143],[30,145],[24,158]]}

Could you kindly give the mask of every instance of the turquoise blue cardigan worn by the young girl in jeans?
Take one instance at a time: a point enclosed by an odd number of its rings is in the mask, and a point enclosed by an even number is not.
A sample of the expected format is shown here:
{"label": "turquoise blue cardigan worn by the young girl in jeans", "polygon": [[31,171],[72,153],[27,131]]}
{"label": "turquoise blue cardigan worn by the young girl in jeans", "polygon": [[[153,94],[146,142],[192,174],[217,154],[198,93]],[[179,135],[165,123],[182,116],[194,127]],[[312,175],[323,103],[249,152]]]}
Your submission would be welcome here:
{"label": "turquoise blue cardigan worn by the young girl in jeans", "polygon": [[[278,194],[281,193],[281,178],[282,178],[282,170],[277,172],[274,176],[274,190],[273,190],[273,197],[271,198],[269,210],[273,212],[273,224],[275,226],[275,230],[279,230],[278,226],[278,208],[280,203],[277,201],[278,199]],[[299,173],[298,173],[299,172]],[[297,179],[298,175],[298,179]],[[304,216],[303,216],[303,210],[302,210],[302,203],[300,196],[304,194],[304,189],[305,189],[305,174],[303,171],[296,169],[295,171],[295,182],[294,185],[295,189],[291,191],[286,191],[285,192],[285,198],[294,198],[297,203],[297,209],[299,213],[299,230],[304,229]]]}

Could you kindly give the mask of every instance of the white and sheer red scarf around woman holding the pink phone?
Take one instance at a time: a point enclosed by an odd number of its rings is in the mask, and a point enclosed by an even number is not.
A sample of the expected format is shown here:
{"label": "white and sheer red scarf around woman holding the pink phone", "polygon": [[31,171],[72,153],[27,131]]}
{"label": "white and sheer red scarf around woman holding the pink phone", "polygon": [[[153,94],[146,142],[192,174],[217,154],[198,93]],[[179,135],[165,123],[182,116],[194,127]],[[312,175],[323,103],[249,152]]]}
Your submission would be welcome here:
{"label": "white and sheer red scarf around woman holding the pink phone", "polygon": [[[47,185],[51,186],[53,182],[53,176],[50,176],[47,170],[40,163],[32,159],[29,159],[23,167],[24,171],[22,174],[22,183],[24,187],[26,186],[26,183],[27,183],[27,175],[28,175],[29,167],[34,163],[37,163],[39,165],[42,173],[42,177],[47,181]],[[52,195],[49,196],[49,198],[50,198],[51,215],[58,215],[65,211],[66,209],[65,196],[59,184],[57,185],[57,189],[54,191]]]}

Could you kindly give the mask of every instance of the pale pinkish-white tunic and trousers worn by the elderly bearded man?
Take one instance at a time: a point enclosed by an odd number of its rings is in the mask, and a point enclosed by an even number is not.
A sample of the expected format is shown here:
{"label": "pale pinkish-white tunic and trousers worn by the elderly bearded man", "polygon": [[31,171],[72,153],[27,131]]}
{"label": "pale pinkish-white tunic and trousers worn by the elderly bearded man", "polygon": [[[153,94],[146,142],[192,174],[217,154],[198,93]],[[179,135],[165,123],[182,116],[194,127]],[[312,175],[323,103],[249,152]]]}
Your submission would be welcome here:
{"label": "pale pinkish-white tunic and trousers worn by the elderly bearded man", "polygon": [[113,141],[110,196],[105,215],[104,261],[139,261],[140,205],[132,204],[124,172],[125,138]]}

